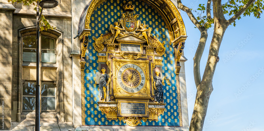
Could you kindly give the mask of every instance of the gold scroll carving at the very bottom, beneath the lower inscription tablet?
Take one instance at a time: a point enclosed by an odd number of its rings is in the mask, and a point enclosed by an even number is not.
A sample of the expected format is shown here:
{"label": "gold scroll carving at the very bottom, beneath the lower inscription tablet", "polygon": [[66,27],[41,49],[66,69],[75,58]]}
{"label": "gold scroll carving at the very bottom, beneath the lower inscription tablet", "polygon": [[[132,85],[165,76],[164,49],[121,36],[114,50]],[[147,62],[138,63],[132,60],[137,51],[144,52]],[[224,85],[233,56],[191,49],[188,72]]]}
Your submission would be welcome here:
{"label": "gold scroll carving at the very bottom, beneath the lower inscription tablet", "polygon": [[123,122],[128,124],[129,126],[135,127],[138,124],[142,124],[141,120],[143,120],[143,122],[146,122],[148,118],[146,118],[146,117],[141,117],[141,118],[138,118],[138,117],[128,117],[128,118],[118,117],[118,119],[120,122],[121,122],[121,120],[123,120]]}

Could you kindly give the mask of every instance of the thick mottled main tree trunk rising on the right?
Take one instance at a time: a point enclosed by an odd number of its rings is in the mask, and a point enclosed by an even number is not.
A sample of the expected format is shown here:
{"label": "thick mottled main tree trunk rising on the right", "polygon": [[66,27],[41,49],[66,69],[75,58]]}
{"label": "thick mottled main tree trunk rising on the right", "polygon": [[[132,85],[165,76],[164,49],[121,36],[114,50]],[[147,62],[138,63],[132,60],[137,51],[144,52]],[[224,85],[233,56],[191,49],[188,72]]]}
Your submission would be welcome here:
{"label": "thick mottled main tree trunk rising on the right", "polygon": [[219,61],[219,47],[222,42],[224,32],[227,28],[226,25],[226,20],[214,18],[214,34],[210,44],[204,75],[202,77],[201,83],[197,87],[194,111],[190,123],[190,131],[202,131],[209,98],[213,91],[212,79],[216,64]]}

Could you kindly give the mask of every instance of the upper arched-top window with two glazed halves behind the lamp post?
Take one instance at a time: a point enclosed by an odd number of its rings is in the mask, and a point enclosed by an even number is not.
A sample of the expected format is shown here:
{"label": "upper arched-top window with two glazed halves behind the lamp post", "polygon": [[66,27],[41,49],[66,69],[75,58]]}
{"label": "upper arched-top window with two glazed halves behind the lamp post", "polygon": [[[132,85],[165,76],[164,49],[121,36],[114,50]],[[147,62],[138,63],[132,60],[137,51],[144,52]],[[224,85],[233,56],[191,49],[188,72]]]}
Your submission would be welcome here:
{"label": "upper arched-top window with two glazed halves behind the lamp post", "polygon": [[[56,63],[55,39],[41,36],[41,62]],[[23,37],[23,62],[36,62],[36,36]]]}

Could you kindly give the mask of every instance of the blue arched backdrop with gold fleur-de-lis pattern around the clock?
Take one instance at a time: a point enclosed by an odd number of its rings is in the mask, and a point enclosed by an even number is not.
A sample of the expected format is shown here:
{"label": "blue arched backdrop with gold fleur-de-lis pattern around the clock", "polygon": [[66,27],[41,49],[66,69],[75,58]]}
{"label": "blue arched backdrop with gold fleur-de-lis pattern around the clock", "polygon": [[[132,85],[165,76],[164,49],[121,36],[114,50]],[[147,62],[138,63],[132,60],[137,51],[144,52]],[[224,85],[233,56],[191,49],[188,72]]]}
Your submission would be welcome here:
{"label": "blue arched backdrop with gold fleur-de-lis pattern around the clock", "polygon": [[[94,49],[95,41],[93,37],[98,38],[101,35],[110,32],[110,24],[119,21],[121,13],[125,13],[123,5],[128,1],[124,0],[107,0],[100,4],[91,14],[91,36],[86,52],[86,66],[84,70],[84,87],[85,87],[85,124],[86,125],[127,125],[119,120],[106,120],[106,115],[101,113],[98,107],[99,88],[95,83],[96,72],[98,72],[98,52]],[[175,61],[173,55],[173,45],[170,42],[169,32],[166,24],[158,11],[150,5],[139,0],[132,0],[135,5],[134,14],[140,14],[137,18],[142,23],[152,28],[151,35],[157,38],[161,43],[165,42],[166,48],[162,61],[162,75],[167,75],[171,85],[163,86],[164,103],[166,110],[158,117],[158,121],[142,121],[138,126],[180,126],[175,74]],[[135,24],[135,23],[132,23]],[[135,26],[130,22],[126,23],[127,27]]]}

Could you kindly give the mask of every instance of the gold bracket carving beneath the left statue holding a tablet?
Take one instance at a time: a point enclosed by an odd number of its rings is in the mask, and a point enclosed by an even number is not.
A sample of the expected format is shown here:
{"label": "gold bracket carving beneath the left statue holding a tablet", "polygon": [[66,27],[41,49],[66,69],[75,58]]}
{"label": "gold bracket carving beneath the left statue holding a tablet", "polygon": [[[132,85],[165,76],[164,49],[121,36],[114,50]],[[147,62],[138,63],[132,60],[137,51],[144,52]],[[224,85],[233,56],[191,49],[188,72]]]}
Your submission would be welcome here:
{"label": "gold bracket carving beneath the left statue holding a tablet", "polygon": [[117,107],[99,107],[106,114],[107,120],[117,120]]}

